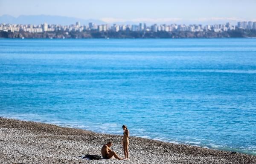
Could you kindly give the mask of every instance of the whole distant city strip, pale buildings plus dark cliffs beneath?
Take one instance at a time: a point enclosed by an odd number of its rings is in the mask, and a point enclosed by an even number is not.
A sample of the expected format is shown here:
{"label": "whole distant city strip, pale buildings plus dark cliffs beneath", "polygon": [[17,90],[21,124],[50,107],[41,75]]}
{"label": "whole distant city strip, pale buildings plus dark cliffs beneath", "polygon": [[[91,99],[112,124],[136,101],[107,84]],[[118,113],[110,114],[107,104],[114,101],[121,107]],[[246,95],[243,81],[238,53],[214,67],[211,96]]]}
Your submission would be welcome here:
{"label": "whole distant city strip, pale buildings plus dark cliffs beneath", "polygon": [[243,21],[237,25],[118,25],[93,22],[81,25],[48,24],[0,24],[0,37],[5,38],[212,38],[212,37],[256,37],[256,22]]}

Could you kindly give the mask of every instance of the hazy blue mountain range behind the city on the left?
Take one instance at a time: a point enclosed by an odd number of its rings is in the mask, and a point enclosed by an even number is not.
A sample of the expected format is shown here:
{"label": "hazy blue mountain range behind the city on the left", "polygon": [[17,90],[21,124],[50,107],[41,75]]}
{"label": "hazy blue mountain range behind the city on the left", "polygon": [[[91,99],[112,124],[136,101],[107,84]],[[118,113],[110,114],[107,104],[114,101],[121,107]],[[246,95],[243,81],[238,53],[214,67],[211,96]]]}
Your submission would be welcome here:
{"label": "hazy blue mountain range behind the city on the left", "polygon": [[33,24],[39,25],[42,23],[48,24],[60,24],[60,25],[71,25],[80,22],[81,25],[88,25],[89,22],[96,24],[106,24],[101,20],[94,19],[80,19],[76,17],[64,17],[64,16],[52,16],[52,15],[20,15],[19,17],[13,17],[11,15],[0,16],[0,23],[10,24]]}

